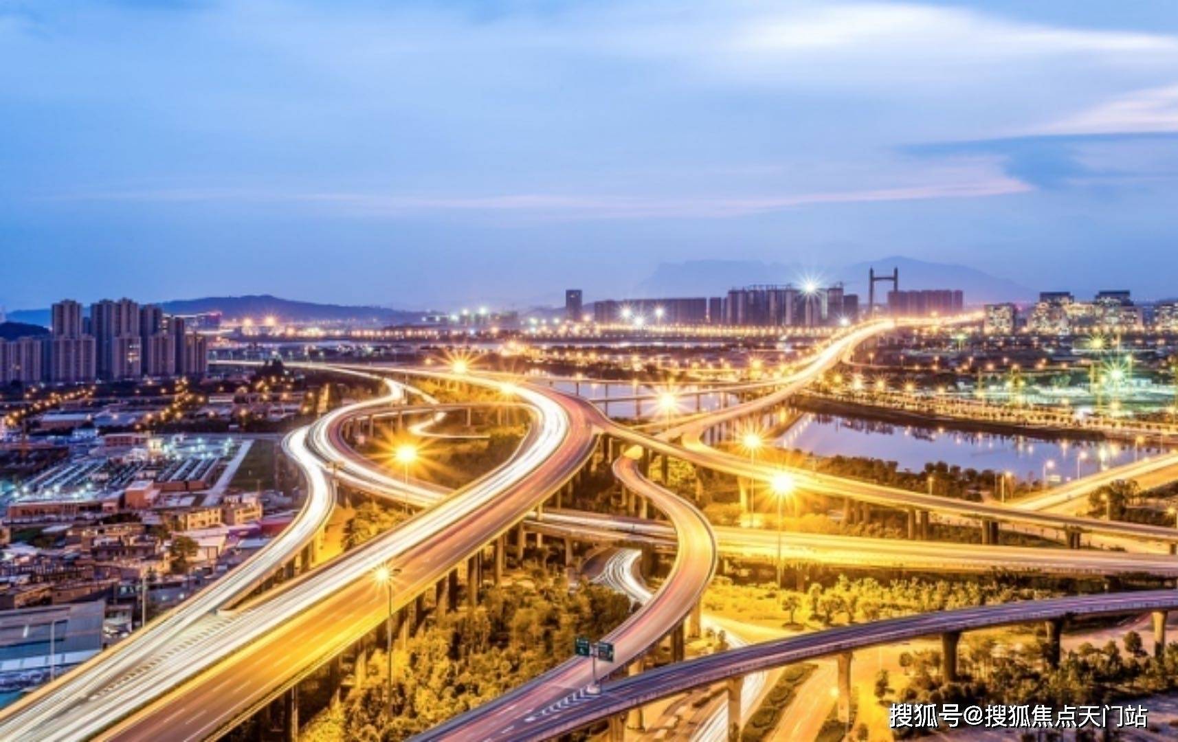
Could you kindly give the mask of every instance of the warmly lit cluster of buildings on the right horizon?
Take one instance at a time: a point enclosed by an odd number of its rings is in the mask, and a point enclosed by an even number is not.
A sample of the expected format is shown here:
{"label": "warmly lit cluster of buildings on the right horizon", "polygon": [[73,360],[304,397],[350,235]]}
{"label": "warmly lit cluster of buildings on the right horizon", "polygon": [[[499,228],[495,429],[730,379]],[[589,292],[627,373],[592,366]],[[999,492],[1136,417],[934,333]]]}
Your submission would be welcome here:
{"label": "warmly lit cluster of buildings on the right horizon", "polygon": [[1071,334],[1110,331],[1178,332],[1178,302],[1152,305],[1134,304],[1127,290],[1100,291],[1091,302],[1078,302],[1067,291],[1044,291],[1026,310],[1012,303],[987,304],[985,331],[988,334],[1013,334],[1026,330],[1033,334]]}

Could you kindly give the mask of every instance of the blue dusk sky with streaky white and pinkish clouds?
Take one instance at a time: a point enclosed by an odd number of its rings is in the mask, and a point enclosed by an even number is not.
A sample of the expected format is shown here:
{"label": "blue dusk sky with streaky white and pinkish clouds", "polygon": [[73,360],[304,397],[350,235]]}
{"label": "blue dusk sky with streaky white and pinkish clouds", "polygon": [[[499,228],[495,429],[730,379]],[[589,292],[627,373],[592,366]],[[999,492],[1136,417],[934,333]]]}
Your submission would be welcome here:
{"label": "blue dusk sky with streaky white and pinkish clouds", "polygon": [[1165,297],[1176,178],[1172,0],[0,0],[9,310],[893,254]]}

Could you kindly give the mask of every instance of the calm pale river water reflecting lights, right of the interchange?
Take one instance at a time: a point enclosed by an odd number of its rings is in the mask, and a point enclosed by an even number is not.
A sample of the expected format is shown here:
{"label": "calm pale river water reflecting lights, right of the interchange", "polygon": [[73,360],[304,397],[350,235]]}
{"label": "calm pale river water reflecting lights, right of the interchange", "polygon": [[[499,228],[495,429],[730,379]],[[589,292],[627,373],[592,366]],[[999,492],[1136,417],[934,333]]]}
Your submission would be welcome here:
{"label": "calm pale river water reflecting lights, right of the interchange", "polygon": [[961,432],[809,412],[777,438],[777,445],[819,456],[894,461],[909,471],[945,462],[962,469],[1011,471],[1025,479],[1041,479],[1046,473],[1060,482],[1157,452],[1125,444]]}

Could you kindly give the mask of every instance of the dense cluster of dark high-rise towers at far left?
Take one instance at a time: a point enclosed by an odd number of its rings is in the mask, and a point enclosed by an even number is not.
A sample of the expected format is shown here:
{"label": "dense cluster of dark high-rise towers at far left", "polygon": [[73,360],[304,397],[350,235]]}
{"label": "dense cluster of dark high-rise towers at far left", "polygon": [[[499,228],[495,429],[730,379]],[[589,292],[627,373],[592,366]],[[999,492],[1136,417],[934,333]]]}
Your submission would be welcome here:
{"label": "dense cluster of dark high-rise towers at far left", "polygon": [[80,384],[204,376],[209,342],[153,304],[104,299],[53,305],[48,334],[0,339],[0,384]]}

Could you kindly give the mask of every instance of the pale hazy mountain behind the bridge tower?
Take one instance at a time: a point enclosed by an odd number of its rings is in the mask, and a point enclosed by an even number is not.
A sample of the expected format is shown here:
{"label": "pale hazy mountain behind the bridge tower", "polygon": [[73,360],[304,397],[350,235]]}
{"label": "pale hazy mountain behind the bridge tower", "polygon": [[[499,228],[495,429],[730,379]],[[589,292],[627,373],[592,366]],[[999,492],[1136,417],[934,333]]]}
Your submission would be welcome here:
{"label": "pale hazy mountain behind the bridge tower", "polygon": [[[1033,299],[1034,290],[984,271],[949,263],[928,263],[905,257],[880,258],[842,266],[803,266],[760,260],[688,260],[660,264],[649,278],[638,283],[630,297],[715,297],[732,287],[752,284],[801,284],[813,278],[822,285],[842,281],[848,292],[867,296],[867,271],[891,273],[900,270],[900,289],[960,289],[967,304]],[[876,285],[876,296],[887,296],[891,286]],[[880,299],[876,299],[880,300]]]}

